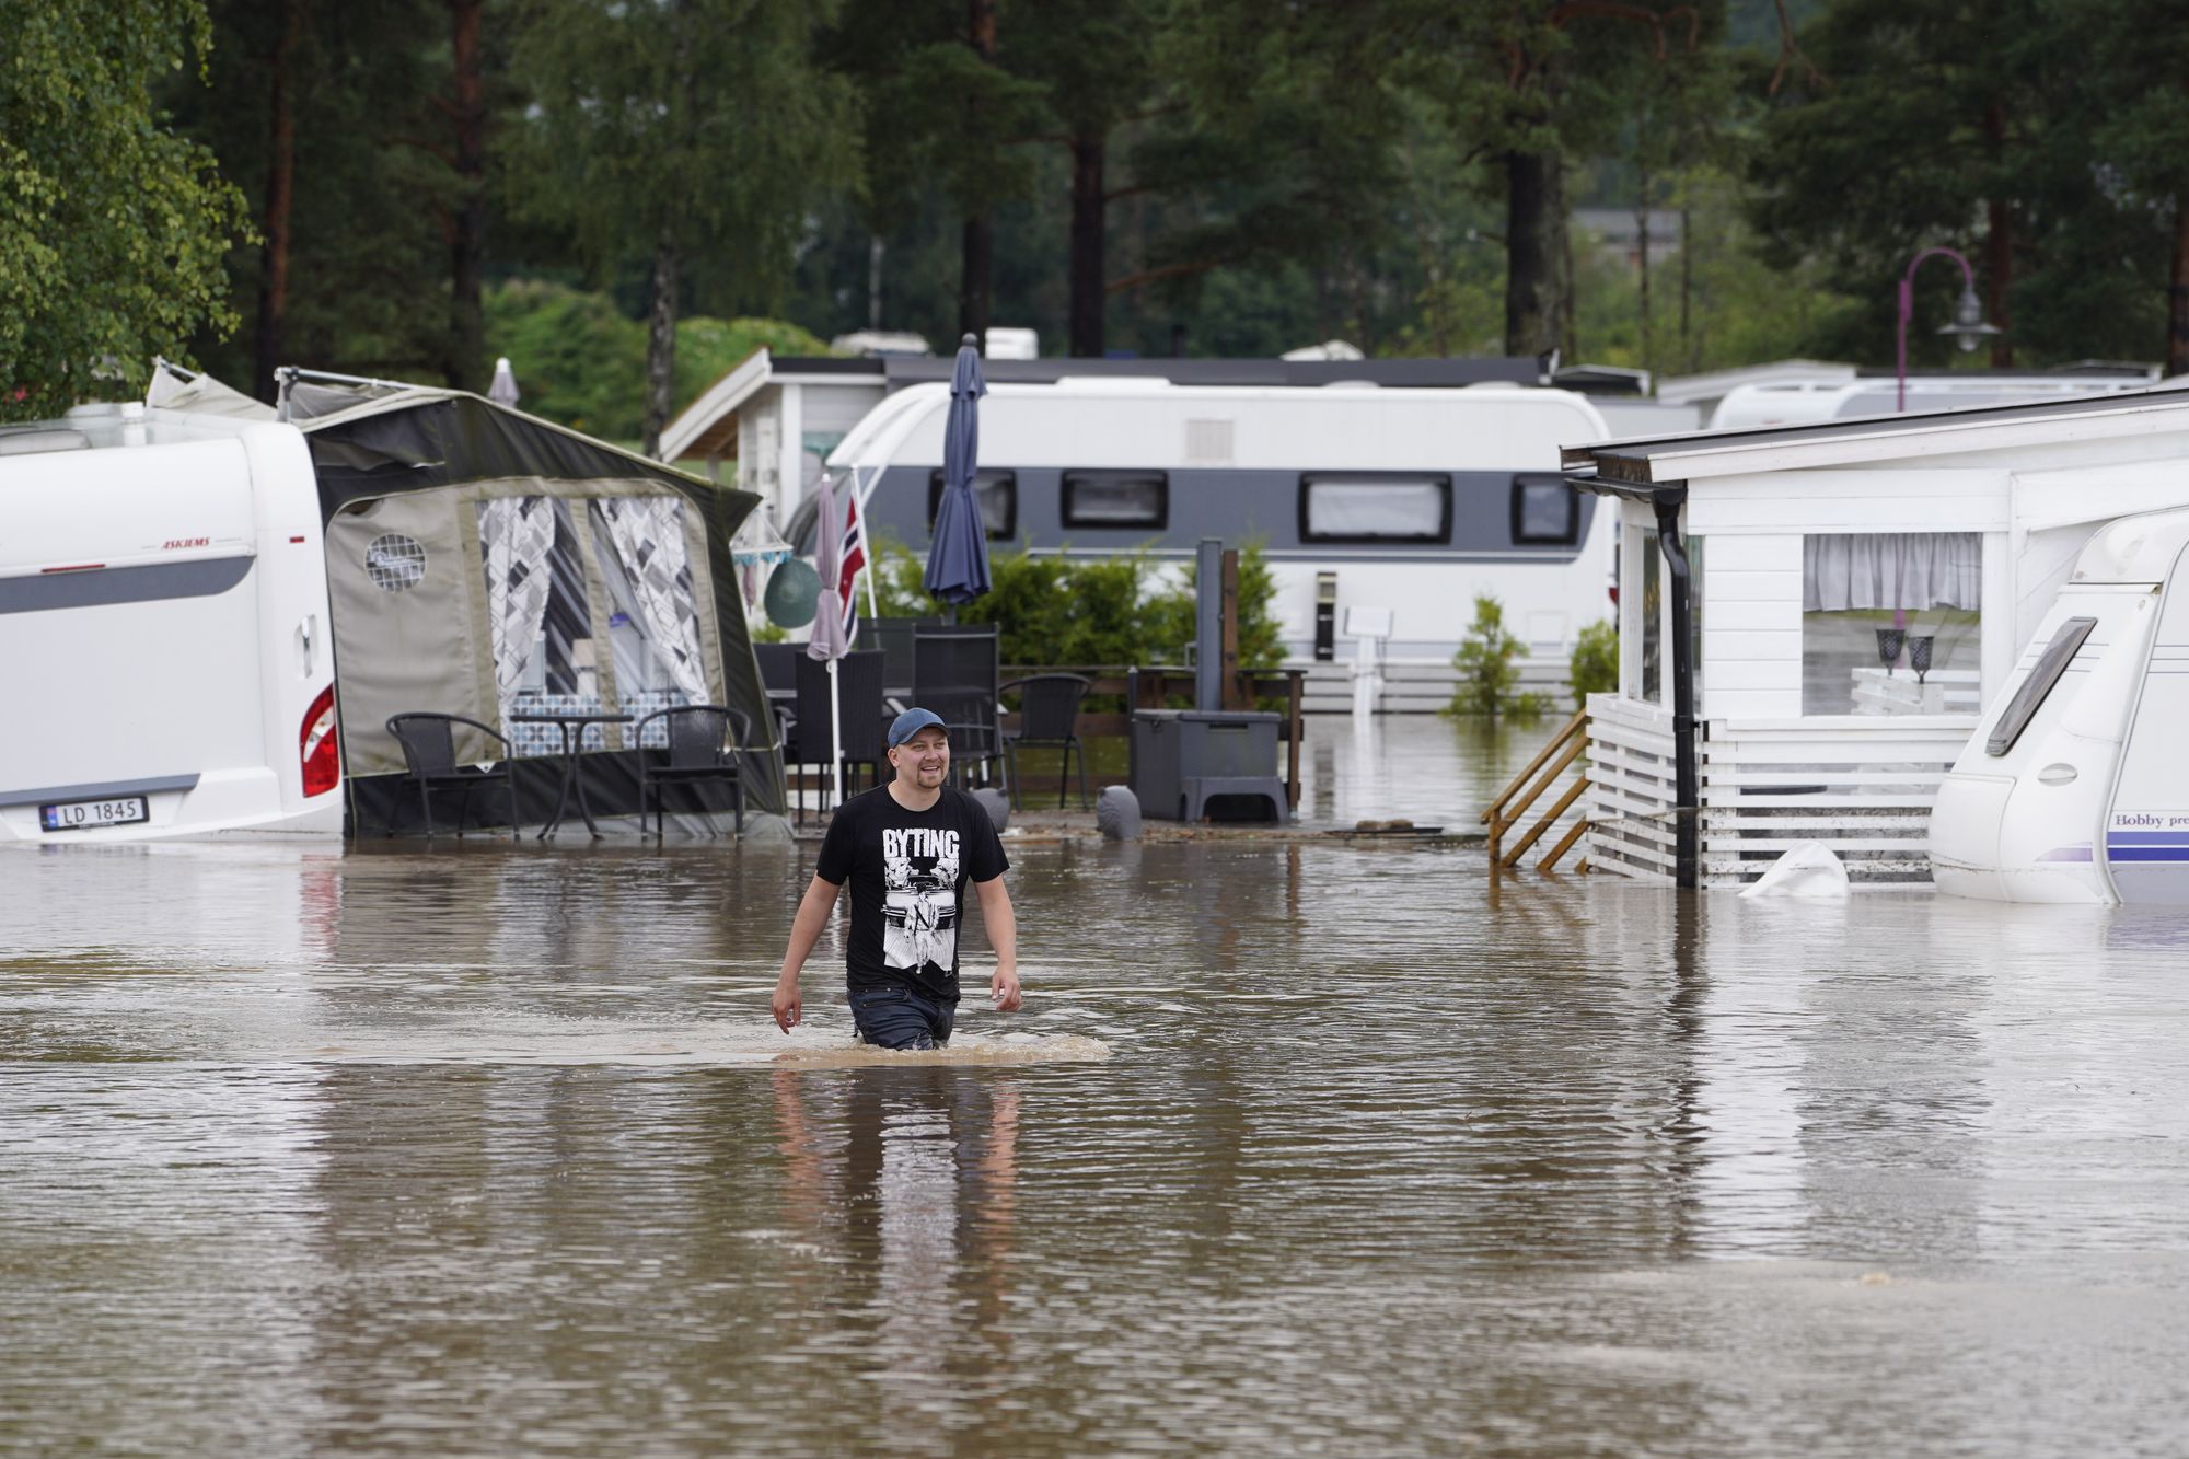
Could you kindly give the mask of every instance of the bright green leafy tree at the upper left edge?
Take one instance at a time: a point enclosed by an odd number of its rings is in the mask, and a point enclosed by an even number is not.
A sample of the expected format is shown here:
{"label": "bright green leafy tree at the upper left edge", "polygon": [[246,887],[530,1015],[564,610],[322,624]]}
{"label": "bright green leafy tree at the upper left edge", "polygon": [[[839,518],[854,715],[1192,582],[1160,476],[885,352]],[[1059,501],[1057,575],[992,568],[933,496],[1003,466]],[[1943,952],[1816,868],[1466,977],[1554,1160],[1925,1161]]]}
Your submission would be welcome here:
{"label": "bright green leafy tree at the upper left edge", "polygon": [[0,39],[0,418],[142,390],[153,355],[234,329],[243,197],[153,103],[210,46],[195,0],[9,7]]}

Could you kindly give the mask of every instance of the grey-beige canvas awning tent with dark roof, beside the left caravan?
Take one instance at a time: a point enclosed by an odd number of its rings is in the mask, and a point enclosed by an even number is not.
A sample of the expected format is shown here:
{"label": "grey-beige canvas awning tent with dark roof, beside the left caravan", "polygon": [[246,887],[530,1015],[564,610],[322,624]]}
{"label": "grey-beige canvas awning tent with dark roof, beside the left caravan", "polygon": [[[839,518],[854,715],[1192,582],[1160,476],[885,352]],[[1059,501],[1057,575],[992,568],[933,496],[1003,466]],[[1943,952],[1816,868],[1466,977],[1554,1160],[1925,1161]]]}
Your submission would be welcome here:
{"label": "grey-beige canvas awning tent with dark roof, beside the left caravan", "polygon": [[[195,377],[162,403],[234,410],[241,399]],[[755,495],[462,390],[293,379],[285,405],[320,482],[357,835],[416,819],[385,727],[414,710],[510,736],[521,819],[536,822],[560,771],[560,730],[517,714],[729,705],[762,747],[749,758],[746,806],[781,811],[775,721],[729,548]],[[609,730],[580,758],[595,813],[637,811],[641,747],[628,738]],[[460,758],[497,754],[486,736],[458,736]],[[473,811],[499,815],[490,800],[475,797]]]}

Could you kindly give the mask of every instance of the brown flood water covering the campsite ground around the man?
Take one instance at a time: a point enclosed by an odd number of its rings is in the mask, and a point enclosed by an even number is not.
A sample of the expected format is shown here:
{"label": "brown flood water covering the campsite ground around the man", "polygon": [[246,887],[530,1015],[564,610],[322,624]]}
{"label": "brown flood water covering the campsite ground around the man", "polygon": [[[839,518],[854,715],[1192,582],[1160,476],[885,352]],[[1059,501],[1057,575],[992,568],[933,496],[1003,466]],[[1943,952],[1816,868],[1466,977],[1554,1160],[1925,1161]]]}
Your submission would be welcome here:
{"label": "brown flood water covering the campsite ground around the man", "polygon": [[2189,1433],[2180,916],[1022,846],[1027,1010],[860,1058],[808,857],[0,857],[0,1450]]}

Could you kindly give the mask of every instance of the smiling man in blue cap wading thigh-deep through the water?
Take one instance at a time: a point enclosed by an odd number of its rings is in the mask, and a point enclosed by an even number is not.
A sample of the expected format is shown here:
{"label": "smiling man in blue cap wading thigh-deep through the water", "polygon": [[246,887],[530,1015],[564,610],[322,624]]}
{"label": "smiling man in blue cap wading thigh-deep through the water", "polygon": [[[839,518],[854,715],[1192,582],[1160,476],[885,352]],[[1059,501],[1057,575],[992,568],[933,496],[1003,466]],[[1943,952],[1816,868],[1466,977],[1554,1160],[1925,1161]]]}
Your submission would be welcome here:
{"label": "smiling man in blue cap wading thigh-deep through the water", "polygon": [[957,1023],[957,935],[968,878],[996,949],[989,999],[1000,1012],[1018,1010],[1018,922],[1003,889],[1011,863],[981,802],[943,784],[950,740],[935,712],[906,710],[889,725],[889,765],[895,780],[854,795],[827,824],[814,878],[790,922],[775,1023],[786,1034],[799,1023],[799,970],[849,881],[845,964],[858,1036],[884,1049],[939,1049]]}

